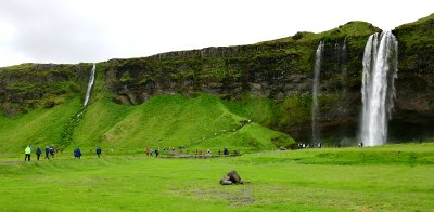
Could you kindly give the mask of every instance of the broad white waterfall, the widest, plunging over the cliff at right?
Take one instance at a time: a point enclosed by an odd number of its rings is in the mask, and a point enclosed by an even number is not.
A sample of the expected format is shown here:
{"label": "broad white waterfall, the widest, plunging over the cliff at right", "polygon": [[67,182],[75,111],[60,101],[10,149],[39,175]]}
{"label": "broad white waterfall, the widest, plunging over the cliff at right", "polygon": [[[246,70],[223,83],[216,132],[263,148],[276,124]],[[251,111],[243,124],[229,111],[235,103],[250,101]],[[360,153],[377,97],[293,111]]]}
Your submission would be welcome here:
{"label": "broad white waterfall, the widest, plunging over the cliff at right", "polygon": [[362,65],[360,140],[367,146],[382,145],[387,140],[398,71],[398,42],[391,31],[369,37]]}

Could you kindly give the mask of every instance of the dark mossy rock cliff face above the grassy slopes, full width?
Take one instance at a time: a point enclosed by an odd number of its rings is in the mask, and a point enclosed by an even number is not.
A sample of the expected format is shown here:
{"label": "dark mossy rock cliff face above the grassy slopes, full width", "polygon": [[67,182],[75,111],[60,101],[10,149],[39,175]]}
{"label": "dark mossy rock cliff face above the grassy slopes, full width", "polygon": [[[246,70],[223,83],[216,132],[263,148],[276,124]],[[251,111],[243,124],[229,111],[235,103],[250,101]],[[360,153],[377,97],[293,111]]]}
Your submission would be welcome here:
{"label": "dark mossy rock cliff face above the grassy slopes, full width", "polygon": [[[309,140],[315,50],[323,40],[321,137],[355,137],[361,107],[363,48],[368,37],[378,31],[368,23],[350,22],[322,34],[297,32],[251,45],[111,59],[97,64],[97,72],[102,76],[104,88],[114,94],[113,101],[119,104],[140,104],[161,94],[194,96],[201,92],[229,101],[272,100],[268,108],[271,115],[258,121],[296,138]],[[391,137],[409,138],[422,131],[434,136],[434,15],[397,27],[393,32],[399,41],[399,71]],[[59,96],[84,96],[89,64],[46,66],[0,68],[4,114],[50,107],[62,102],[54,101]],[[11,105],[17,108],[11,109]],[[409,125],[419,130],[403,135],[401,129]]]}

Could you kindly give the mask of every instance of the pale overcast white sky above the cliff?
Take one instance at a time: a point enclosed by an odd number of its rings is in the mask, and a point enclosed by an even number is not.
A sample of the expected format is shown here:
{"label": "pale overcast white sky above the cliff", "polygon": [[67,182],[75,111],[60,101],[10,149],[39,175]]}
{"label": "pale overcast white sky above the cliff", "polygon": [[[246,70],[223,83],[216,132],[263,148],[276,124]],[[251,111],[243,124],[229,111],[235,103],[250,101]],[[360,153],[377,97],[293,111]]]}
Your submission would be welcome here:
{"label": "pale overcast white sky above the cliff", "polygon": [[251,44],[350,21],[393,29],[434,0],[0,0],[0,67]]}

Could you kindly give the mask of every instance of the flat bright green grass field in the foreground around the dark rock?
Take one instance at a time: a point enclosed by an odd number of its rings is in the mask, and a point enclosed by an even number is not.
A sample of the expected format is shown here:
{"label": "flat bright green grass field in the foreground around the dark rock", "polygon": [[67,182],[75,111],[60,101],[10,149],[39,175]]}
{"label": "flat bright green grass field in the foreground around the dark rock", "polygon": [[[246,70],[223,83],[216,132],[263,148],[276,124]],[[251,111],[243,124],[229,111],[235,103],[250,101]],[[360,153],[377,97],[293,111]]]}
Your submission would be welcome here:
{"label": "flat bright green grass field in the foreground around the dark rock", "polygon": [[[104,149],[105,150],[105,149]],[[434,144],[0,160],[0,211],[431,211]],[[237,170],[244,185],[220,186]]]}

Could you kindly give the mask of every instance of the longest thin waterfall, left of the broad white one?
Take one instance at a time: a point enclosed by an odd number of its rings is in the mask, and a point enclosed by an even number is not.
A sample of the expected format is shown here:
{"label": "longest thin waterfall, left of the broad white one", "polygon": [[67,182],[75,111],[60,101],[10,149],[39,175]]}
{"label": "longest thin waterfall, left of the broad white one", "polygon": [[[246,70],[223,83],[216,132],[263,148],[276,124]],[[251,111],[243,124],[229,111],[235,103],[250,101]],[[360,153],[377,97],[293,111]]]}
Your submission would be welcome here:
{"label": "longest thin waterfall, left of the broad white one", "polygon": [[316,57],[315,57],[315,70],[314,70],[314,87],[312,87],[312,108],[311,108],[311,118],[312,118],[312,143],[319,142],[319,129],[317,125],[317,117],[319,114],[318,106],[318,93],[319,93],[319,77],[321,71],[321,61],[324,54],[324,41],[321,41],[318,45]]}

